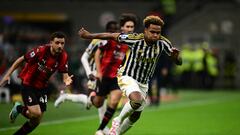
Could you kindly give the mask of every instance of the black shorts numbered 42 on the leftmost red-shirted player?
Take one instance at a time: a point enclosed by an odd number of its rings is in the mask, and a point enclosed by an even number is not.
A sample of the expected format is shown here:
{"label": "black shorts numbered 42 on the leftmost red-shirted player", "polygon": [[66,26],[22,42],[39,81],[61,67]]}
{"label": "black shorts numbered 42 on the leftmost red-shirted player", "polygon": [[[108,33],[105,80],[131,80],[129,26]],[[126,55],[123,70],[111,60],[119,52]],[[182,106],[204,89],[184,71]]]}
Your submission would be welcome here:
{"label": "black shorts numbered 42 on the leftmost red-shirted player", "polygon": [[44,89],[35,89],[30,86],[22,85],[22,99],[24,105],[33,106],[39,105],[42,112],[45,112],[47,109],[47,92]]}

